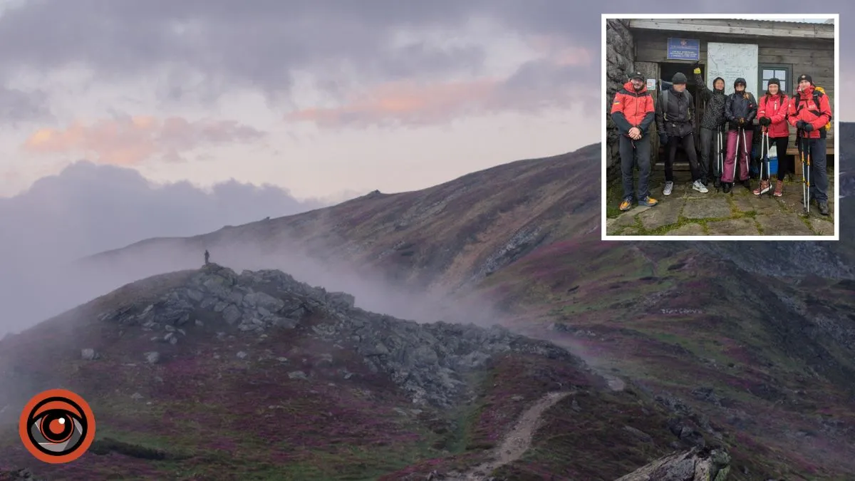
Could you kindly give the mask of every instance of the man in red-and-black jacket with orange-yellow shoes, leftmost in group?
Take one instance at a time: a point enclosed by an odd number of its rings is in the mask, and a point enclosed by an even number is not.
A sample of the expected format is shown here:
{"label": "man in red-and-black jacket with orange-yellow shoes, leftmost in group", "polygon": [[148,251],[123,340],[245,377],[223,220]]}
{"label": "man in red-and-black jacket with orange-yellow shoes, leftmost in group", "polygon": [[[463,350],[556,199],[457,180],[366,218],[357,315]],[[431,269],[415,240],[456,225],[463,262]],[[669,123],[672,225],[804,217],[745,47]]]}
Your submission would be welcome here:
{"label": "man in red-and-black jacket with orange-yellow shoes, leftmost in group", "polygon": [[657,199],[650,196],[650,126],[654,119],[653,98],[645,85],[644,75],[635,72],[623,88],[616,92],[611,103],[611,120],[618,131],[618,148],[621,153],[623,199],[621,211],[633,206],[633,169],[639,166],[639,205],[652,207]]}

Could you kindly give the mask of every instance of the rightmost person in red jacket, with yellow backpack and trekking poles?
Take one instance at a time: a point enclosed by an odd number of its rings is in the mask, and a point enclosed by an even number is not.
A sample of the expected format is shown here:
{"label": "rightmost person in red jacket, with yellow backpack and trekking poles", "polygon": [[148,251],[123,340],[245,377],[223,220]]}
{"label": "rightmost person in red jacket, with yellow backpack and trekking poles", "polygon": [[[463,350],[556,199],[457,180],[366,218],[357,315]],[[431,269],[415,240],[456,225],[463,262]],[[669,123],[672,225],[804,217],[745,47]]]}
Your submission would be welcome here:
{"label": "rightmost person in red jacket, with yellow backpack and trekking poles", "polygon": [[[808,148],[811,153],[811,200],[819,205],[819,213],[828,216],[828,170],[825,158],[825,135],[821,130],[831,122],[831,105],[828,95],[817,92],[818,102],[814,100],[816,86],[811,75],[799,77],[799,91],[790,100],[787,111],[790,125],[798,129],[799,149]],[[796,103],[798,102],[798,107]],[[802,142],[805,142],[803,145]],[[800,154],[799,154],[800,155]]]}

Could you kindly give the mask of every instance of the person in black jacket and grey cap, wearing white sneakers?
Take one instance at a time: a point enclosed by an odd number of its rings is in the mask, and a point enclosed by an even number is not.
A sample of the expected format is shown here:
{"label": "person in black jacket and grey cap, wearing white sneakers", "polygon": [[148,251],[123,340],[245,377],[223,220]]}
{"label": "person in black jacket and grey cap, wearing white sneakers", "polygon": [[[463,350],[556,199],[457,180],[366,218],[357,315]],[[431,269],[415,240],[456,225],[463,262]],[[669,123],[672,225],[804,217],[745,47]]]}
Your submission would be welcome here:
{"label": "person in black jacket and grey cap, wearing white sneakers", "polygon": [[694,104],[692,95],[686,92],[686,82],[686,75],[677,72],[671,79],[671,87],[659,92],[656,107],[659,141],[667,145],[668,151],[668,156],[665,158],[665,187],[662,192],[664,195],[671,195],[674,189],[674,157],[677,155],[678,146],[686,151],[686,157],[689,159],[692,188],[700,193],[709,192],[701,182],[698,155],[694,148]]}

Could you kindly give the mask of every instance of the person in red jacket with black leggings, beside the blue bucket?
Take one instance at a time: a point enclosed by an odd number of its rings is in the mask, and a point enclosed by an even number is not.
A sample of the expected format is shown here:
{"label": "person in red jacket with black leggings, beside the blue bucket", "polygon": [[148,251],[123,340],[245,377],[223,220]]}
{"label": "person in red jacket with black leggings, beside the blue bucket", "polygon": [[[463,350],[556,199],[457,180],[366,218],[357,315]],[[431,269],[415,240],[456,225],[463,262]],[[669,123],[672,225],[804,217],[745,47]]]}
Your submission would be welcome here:
{"label": "person in red jacket with black leggings, beside the blue bucket", "polygon": [[[769,148],[775,145],[775,150],[778,151],[778,181],[775,184],[775,195],[778,197],[781,197],[784,192],[784,176],[787,172],[795,174],[793,159],[787,157],[787,144],[790,141],[790,126],[787,125],[789,100],[787,94],[781,92],[781,81],[769,79],[768,90],[760,98],[760,109],[757,114],[758,122],[769,133]],[[771,181],[769,173],[763,169],[760,187],[754,189],[754,195],[768,192],[769,181]]]}

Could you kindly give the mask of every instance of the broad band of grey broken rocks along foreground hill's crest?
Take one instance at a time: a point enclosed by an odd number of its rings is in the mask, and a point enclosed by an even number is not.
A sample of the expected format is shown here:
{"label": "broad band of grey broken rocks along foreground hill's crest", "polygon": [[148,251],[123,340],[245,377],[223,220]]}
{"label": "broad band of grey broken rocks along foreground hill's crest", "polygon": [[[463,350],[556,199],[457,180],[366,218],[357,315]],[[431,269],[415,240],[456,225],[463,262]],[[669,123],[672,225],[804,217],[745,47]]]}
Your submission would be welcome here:
{"label": "broad band of grey broken rocks along foreground hill's crest", "polygon": [[[311,287],[279,270],[245,270],[238,275],[209,264],[186,285],[169,289],[153,302],[123,306],[103,312],[99,318],[150,331],[154,344],[179,344],[186,336],[201,335],[197,328],[209,327],[209,322],[216,323],[221,339],[300,330],[301,336],[350,347],[363,357],[370,372],[388,375],[414,404],[438,407],[471,395],[465,377],[488,367],[497,354],[534,353],[582,365],[561,347],[498,326],[419,324],[367,312],[354,304],[350,294]],[[237,355],[247,357],[246,353]],[[151,364],[168,362],[156,351],[140,356]],[[295,378],[310,376],[294,374]]]}

